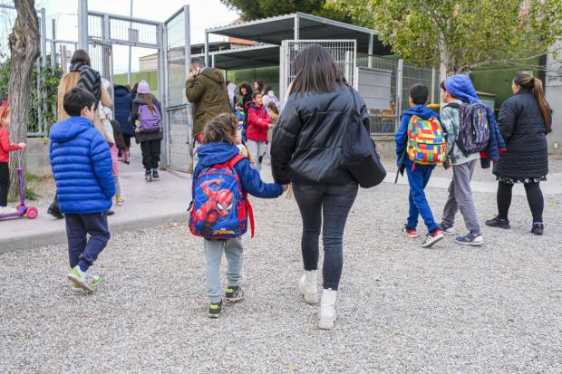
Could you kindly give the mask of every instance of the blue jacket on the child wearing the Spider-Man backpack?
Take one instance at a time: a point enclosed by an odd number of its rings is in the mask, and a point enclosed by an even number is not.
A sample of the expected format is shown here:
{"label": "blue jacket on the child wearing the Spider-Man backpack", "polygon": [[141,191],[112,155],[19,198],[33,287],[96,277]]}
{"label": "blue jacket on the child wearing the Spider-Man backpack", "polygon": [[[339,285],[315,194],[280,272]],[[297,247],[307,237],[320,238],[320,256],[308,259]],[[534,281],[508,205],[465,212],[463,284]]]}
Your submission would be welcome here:
{"label": "blue jacket on the child wearing the Spider-Man backpack", "polygon": [[[237,146],[233,146],[226,142],[210,143],[199,147],[197,151],[199,162],[193,171],[193,186],[191,188],[192,194],[195,193],[195,182],[197,181],[197,177],[199,177],[203,168],[223,164],[230,158],[235,157],[238,154],[238,151],[239,149]],[[254,167],[254,164],[250,164],[250,161],[247,158],[238,162],[234,169],[240,178],[242,189],[247,191],[248,194],[262,198],[275,198],[283,194],[283,187],[281,185],[276,183],[264,183],[261,180],[256,167]],[[193,198],[195,198],[194,195]]]}

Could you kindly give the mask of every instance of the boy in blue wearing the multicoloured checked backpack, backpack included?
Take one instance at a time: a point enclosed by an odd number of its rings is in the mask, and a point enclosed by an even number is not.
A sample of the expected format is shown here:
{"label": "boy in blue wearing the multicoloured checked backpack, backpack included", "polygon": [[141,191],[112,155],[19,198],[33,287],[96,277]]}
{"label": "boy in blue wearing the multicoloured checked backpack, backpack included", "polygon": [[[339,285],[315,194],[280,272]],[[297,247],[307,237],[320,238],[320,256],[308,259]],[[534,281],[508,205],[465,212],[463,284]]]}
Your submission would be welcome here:
{"label": "boy in blue wearing the multicoloured checked backpack, backpack included", "polygon": [[422,247],[431,247],[443,238],[441,227],[431,213],[425,197],[427,186],[435,165],[445,157],[445,134],[441,129],[439,115],[425,107],[429,90],[422,84],[410,89],[410,109],[404,111],[396,131],[396,155],[401,173],[406,169],[410,185],[410,214],[404,231],[412,238],[418,236],[418,216],[422,216],[428,235]]}

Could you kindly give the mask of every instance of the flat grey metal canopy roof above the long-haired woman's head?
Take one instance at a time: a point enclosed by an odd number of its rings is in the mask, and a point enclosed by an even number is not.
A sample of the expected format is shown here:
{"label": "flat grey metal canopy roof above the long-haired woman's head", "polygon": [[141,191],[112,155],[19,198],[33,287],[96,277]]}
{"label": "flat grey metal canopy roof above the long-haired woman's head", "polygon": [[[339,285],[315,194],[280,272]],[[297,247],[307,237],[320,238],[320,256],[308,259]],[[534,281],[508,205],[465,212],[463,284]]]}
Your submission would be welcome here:
{"label": "flat grey metal canopy roof above the long-haired woman's head", "polygon": [[[258,43],[273,44],[277,46],[280,46],[284,40],[353,39],[357,41],[357,52],[359,53],[390,53],[389,47],[384,46],[383,43],[378,40],[374,30],[355,26],[353,24],[344,24],[342,22],[304,13],[279,15],[257,21],[241,24],[229,24],[205,30],[205,43],[207,45],[205,49],[205,58],[206,61],[210,63],[211,61],[209,61],[209,56],[216,56],[217,53],[208,52],[208,34],[246,39]],[[229,54],[231,57],[239,56],[240,58],[243,58],[243,55],[249,53],[244,50],[249,49],[231,50],[228,53],[222,53],[222,57],[224,58],[226,54]],[[272,61],[270,64],[275,65],[279,62],[278,56],[276,60],[273,61],[273,53],[275,53],[275,51],[273,49],[270,51],[272,53]],[[257,57],[261,57],[262,60],[268,61],[266,56],[263,55],[264,52],[266,52],[264,49],[259,50],[257,52]],[[259,53],[262,54],[260,55]],[[221,57],[215,57],[215,63],[218,62],[218,59],[221,59]],[[223,59],[223,61],[225,60]],[[257,64],[259,65],[259,63]],[[256,66],[257,64],[253,62],[251,63],[252,66]],[[247,65],[248,64],[243,66]],[[219,67],[218,64],[216,66]],[[232,69],[233,67],[230,66],[228,68]]]}

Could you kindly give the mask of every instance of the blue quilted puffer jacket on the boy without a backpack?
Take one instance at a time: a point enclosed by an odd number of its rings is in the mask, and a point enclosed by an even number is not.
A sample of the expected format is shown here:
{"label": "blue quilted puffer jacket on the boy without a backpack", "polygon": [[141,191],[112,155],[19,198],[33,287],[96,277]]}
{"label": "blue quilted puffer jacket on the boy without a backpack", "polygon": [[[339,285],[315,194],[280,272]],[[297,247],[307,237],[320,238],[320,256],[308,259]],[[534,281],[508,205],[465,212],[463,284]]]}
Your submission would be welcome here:
{"label": "blue quilted puffer jacket on the boy without a backpack", "polygon": [[106,212],[115,194],[111,153],[92,121],[71,117],[56,122],[49,134],[56,195],[63,213]]}

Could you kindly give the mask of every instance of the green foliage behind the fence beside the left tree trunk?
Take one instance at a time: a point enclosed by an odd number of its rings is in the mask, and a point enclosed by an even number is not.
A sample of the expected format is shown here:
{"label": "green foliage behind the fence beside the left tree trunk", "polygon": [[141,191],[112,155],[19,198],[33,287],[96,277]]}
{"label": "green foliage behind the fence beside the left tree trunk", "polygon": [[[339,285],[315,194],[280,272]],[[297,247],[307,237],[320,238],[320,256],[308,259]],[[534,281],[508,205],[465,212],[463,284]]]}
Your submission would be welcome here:
{"label": "green foliage behind the fence beside the left tree trunk", "polygon": [[[10,59],[5,56],[0,55],[0,100],[5,100],[9,94],[8,80],[10,78]],[[40,85],[39,89],[41,97],[37,97],[37,65],[34,65],[34,72],[31,82],[30,91],[30,108],[29,108],[29,126],[28,131],[38,132],[39,120],[37,116],[37,105],[41,104],[41,115],[46,118],[47,126],[53,125],[56,121],[56,105],[57,105],[57,88],[61,77],[63,76],[63,70],[59,65],[57,65],[54,70],[50,65],[41,69]],[[43,94],[45,92],[45,94]],[[44,99],[46,100],[46,109],[44,108]],[[53,110],[54,109],[54,110]],[[47,129],[45,129],[47,130]]]}

